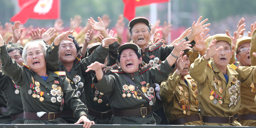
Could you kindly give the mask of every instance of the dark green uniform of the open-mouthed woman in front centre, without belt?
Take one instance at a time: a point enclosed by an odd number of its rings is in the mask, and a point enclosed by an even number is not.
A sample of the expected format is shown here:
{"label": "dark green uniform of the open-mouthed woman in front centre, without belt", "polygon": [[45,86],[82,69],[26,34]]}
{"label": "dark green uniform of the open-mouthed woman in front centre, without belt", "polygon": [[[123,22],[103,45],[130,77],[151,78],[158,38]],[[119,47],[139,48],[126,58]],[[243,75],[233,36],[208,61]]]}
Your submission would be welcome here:
{"label": "dark green uniform of the open-mouthed woman in front centre, without belt", "polygon": [[[151,68],[150,64],[148,64],[139,71],[125,74],[136,84],[142,95],[144,93],[147,97],[150,95],[154,99],[153,83],[164,81],[174,68],[175,64],[173,67],[170,67],[168,62],[164,61],[158,68]],[[104,93],[104,95],[109,95],[109,104],[114,111],[115,109],[125,110],[149,107],[149,103],[144,98],[139,98],[138,95],[136,98],[134,85],[128,82],[122,70],[110,70],[109,75],[103,76],[101,81],[97,81],[97,78],[94,78],[93,82],[100,92]],[[131,88],[128,88],[128,86],[131,86]],[[139,116],[139,114],[137,116],[113,116],[111,123],[156,124],[155,117],[157,118],[158,116],[154,112],[145,116]]]}

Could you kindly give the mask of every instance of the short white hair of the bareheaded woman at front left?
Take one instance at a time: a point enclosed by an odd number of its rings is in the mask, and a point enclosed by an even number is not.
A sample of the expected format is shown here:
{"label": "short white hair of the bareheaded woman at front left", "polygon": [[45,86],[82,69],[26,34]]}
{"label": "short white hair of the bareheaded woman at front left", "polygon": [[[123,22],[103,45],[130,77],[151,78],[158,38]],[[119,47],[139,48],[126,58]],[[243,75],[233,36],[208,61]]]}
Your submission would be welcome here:
{"label": "short white hair of the bareheaded woman at front left", "polygon": [[43,51],[44,55],[46,55],[46,49],[47,49],[47,48],[46,48],[46,45],[45,45],[44,40],[39,39],[39,40],[32,40],[32,41],[29,41],[29,42],[26,43],[26,45],[24,46],[24,49],[23,49],[23,52],[22,52],[22,58],[23,58],[25,64],[28,63],[28,61],[27,61],[27,53],[28,53],[27,49],[28,49],[28,47],[30,47],[31,45],[35,45],[35,44],[40,45],[41,48],[42,48],[42,51]]}

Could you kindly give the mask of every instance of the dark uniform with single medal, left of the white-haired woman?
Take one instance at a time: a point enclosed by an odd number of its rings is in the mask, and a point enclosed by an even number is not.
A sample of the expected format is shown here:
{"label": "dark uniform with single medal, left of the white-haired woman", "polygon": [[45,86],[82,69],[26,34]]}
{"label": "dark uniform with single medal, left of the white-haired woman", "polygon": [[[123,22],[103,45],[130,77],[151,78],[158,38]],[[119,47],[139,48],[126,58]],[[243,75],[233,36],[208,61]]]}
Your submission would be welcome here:
{"label": "dark uniform with single medal, left of the white-haired woman", "polygon": [[12,117],[12,123],[23,123],[23,107],[19,86],[12,82],[12,78],[0,71],[0,90],[7,101],[7,109]]}

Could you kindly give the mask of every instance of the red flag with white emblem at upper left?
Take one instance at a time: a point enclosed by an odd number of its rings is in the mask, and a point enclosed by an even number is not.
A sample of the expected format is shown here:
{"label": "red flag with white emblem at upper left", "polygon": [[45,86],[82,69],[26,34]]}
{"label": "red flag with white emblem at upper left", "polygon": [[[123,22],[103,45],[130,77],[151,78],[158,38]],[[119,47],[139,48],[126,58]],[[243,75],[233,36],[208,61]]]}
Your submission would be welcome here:
{"label": "red flag with white emblem at upper left", "polygon": [[58,19],[59,0],[19,0],[21,11],[11,18],[11,21],[20,21],[25,24],[31,19]]}

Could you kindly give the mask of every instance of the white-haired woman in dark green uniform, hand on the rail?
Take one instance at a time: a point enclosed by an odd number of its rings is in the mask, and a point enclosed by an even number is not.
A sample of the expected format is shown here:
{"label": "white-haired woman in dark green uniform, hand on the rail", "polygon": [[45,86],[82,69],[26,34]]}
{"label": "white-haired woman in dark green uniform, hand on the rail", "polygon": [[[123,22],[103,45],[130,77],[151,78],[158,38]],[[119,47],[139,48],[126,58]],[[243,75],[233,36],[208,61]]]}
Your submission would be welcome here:
{"label": "white-haired woman in dark green uniform, hand on the rail", "polygon": [[[72,31],[62,33],[55,38],[55,42],[58,43],[63,39],[72,40],[67,38],[70,33]],[[86,114],[88,110],[75,95],[75,90],[71,88],[65,73],[47,70],[45,51],[43,40],[26,43],[22,57],[28,66],[24,64],[21,67],[9,57],[0,35],[1,69],[20,86],[24,123],[67,123],[61,118],[65,103],[75,115],[80,117],[76,123],[84,122],[84,128],[90,127],[94,122],[88,120]]]}

